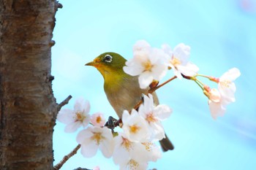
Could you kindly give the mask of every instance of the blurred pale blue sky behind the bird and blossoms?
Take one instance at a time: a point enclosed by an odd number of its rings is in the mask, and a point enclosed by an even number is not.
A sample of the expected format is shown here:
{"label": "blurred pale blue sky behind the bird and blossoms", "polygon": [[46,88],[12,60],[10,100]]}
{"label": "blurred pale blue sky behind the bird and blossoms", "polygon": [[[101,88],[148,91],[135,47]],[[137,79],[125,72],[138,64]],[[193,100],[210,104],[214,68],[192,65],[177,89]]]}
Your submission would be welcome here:
{"label": "blurred pale blue sky behind the bird and blossoms", "polygon": [[[236,102],[227,106],[224,117],[213,120],[208,100],[195,82],[175,80],[160,88],[160,102],[173,109],[163,124],[175,150],[163,153],[148,169],[255,169],[255,0],[59,2],[64,7],[56,14],[52,74],[57,101],[73,96],[64,108],[72,109],[75,99],[82,96],[90,101],[91,114],[115,116],[105,97],[102,75],[84,64],[109,51],[132,58],[132,47],[139,39],[153,47],[163,43],[175,47],[183,42],[191,47],[190,60],[199,66],[200,74],[219,77],[233,67],[240,69]],[[55,164],[77,146],[76,135],[64,133],[64,125],[57,122],[53,135]],[[118,169],[101,152],[94,158],[83,158],[80,150],[62,169],[95,166]]]}

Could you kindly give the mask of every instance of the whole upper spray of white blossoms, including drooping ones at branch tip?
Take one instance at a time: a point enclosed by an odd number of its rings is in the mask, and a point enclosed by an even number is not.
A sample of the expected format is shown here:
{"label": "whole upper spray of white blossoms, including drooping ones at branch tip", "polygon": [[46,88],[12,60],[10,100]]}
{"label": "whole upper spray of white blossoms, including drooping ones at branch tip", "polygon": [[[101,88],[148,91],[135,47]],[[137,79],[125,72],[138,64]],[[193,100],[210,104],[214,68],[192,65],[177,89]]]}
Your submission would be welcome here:
{"label": "whole upper spray of white blossoms, including drooping ones at branch tip", "polygon": [[[225,113],[227,104],[236,101],[234,93],[236,85],[234,80],[240,76],[236,68],[230,69],[222,77],[210,77],[198,74],[199,68],[189,61],[190,47],[183,43],[171,49],[167,44],[162,48],[151,47],[145,40],[140,40],[133,47],[133,58],[126,62],[124,72],[132,76],[138,76],[140,88],[148,88],[153,81],[159,81],[168,69],[173,69],[173,74],[178,79],[193,80],[202,88],[203,93],[208,97],[208,106],[211,117],[217,119]],[[206,77],[208,80],[218,83],[218,89],[210,88],[198,77]]]}

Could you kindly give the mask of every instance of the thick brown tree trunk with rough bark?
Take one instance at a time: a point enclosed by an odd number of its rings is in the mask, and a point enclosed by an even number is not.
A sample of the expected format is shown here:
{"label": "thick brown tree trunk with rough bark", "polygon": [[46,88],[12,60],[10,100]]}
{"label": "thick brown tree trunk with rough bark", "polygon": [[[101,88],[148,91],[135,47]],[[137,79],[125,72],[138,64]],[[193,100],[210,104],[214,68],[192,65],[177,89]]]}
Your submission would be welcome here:
{"label": "thick brown tree trunk with rough bark", "polygon": [[0,169],[53,169],[55,0],[0,0]]}

